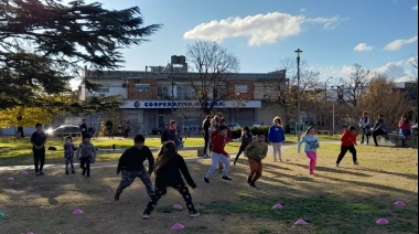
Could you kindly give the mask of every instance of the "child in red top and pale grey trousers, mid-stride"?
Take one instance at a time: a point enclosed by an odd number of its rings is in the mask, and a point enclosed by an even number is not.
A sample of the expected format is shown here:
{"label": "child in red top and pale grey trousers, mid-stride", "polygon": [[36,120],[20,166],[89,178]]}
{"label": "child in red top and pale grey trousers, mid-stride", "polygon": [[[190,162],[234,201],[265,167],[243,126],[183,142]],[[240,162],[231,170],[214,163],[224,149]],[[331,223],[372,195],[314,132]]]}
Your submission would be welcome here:
{"label": "child in red top and pale grey trousers, mid-stride", "polygon": [[211,151],[211,167],[204,177],[204,182],[210,183],[210,177],[217,168],[219,161],[223,162],[223,180],[232,180],[227,177],[229,168],[229,155],[224,150],[224,147],[230,139],[228,138],[228,129],[226,126],[219,126],[218,129],[211,134],[211,142],[213,145]]}

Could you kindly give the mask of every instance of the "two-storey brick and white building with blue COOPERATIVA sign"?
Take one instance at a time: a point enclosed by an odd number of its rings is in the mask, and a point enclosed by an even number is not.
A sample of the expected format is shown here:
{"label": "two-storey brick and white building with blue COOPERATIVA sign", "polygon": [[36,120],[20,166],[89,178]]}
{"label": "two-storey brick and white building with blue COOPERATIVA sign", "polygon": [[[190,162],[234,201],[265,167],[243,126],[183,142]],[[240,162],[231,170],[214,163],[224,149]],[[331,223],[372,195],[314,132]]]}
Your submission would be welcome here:
{"label": "two-storey brick and white building with blue COOPERATIVA sign", "polygon": [[[146,71],[108,71],[99,76],[94,71],[85,70],[84,77],[87,81],[103,86],[89,92],[82,85],[79,98],[121,95],[126,99],[125,105],[112,114],[87,117],[90,124],[110,119],[118,126],[123,125],[125,119],[130,119],[133,131],[151,132],[152,128],[175,119],[180,126],[197,131],[205,114],[191,81],[196,84],[198,75],[187,72],[184,56],[172,56],[166,66],[147,66]],[[280,111],[277,105],[267,102],[267,94],[271,100],[275,86],[286,82],[284,71],[229,74],[221,86],[225,95],[215,103],[213,113],[221,111],[227,121],[240,126],[270,124]],[[210,99],[213,98],[212,92],[208,92]]]}

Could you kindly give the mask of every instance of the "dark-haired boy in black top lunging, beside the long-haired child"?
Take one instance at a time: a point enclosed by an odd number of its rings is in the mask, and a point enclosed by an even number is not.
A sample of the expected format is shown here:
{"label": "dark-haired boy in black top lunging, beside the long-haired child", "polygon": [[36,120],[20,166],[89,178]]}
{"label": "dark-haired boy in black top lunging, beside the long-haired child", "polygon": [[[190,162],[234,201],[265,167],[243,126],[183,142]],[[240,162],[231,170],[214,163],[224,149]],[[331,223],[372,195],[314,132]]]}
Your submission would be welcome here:
{"label": "dark-haired boy in black top lunging, beside the long-haired child", "polygon": [[[119,158],[117,174],[122,172],[121,181],[114,195],[115,201],[119,201],[122,191],[131,185],[133,180],[138,177],[146,185],[147,193],[151,196],[154,194],[150,176],[154,170],[154,157],[149,147],[144,146],[144,137],[137,135],[133,138],[135,146],[127,149]],[[149,170],[146,171],[144,161],[149,161]]]}

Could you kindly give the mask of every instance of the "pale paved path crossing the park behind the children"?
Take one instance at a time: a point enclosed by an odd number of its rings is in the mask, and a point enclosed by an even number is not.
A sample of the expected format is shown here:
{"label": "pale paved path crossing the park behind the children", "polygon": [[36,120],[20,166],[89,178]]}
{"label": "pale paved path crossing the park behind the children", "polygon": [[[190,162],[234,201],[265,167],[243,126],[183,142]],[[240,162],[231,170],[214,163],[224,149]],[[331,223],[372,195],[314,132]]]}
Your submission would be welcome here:
{"label": "pale paved path crossing the park behind the children", "polygon": [[[296,143],[291,142],[291,143],[284,143],[282,145],[281,147],[281,151],[283,153],[283,151],[286,149],[288,149],[290,146],[293,146]],[[272,146],[269,146],[268,147],[268,157],[273,155],[273,148]],[[230,155],[230,160],[233,160],[235,157],[235,153],[232,153]],[[243,155],[241,155],[243,157]],[[233,158],[233,159],[232,159]],[[207,160],[207,159],[211,159],[211,158],[185,158],[186,161],[196,161],[196,160]],[[147,163],[147,162],[146,162]],[[74,163],[74,166],[78,166],[78,163]],[[92,167],[114,167],[116,168],[117,167],[117,162],[116,161],[112,161],[112,162],[95,162],[94,164],[92,164]],[[50,168],[64,168],[64,163],[58,163],[58,164],[44,164],[44,169],[50,169]],[[7,167],[0,167],[0,171],[9,171],[9,170],[34,170],[34,166],[7,166]]]}

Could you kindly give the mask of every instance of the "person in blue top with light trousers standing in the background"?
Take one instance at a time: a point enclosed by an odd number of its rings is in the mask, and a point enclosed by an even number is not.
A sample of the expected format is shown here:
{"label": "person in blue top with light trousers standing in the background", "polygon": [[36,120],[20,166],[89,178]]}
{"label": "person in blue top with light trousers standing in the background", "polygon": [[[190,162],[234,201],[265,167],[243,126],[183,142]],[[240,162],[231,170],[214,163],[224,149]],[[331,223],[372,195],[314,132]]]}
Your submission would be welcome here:
{"label": "person in blue top with light trousers standing in the background", "polygon": [[282,129],[282,120],[279,116],[273,117],[273,125],[269,127],[268,141],[272,143],[273,148],[273,161],[282,161],[281,146],[286,140],[286,135]]}

